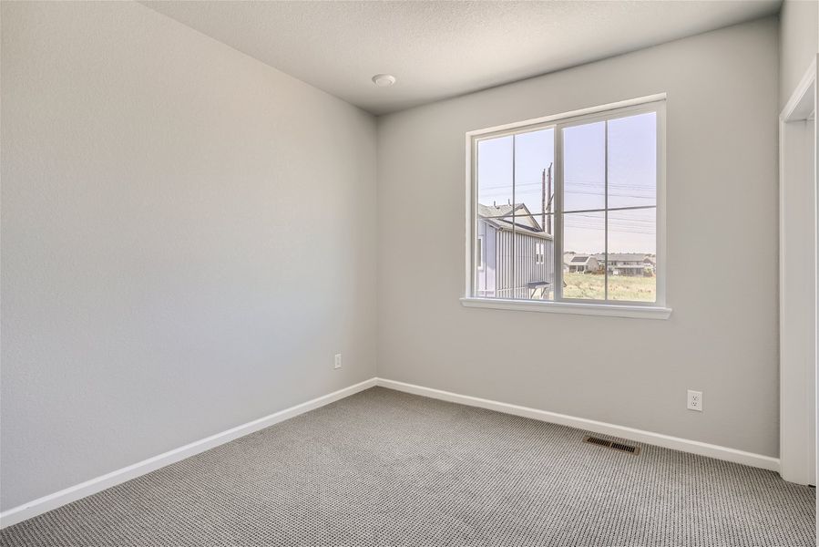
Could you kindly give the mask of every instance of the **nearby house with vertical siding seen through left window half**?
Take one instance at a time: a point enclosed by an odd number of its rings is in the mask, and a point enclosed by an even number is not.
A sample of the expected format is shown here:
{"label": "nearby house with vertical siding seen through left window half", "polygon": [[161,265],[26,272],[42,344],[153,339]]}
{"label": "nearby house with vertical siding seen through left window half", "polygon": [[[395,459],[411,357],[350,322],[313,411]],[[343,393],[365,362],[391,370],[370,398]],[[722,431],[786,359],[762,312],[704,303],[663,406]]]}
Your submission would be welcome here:
{"label": "nearby house with vertical siding seen through left window half", "polygon": [[476,296],[550,298],[554,238],[536,216],[523,203],[478,204],[477,213]]}

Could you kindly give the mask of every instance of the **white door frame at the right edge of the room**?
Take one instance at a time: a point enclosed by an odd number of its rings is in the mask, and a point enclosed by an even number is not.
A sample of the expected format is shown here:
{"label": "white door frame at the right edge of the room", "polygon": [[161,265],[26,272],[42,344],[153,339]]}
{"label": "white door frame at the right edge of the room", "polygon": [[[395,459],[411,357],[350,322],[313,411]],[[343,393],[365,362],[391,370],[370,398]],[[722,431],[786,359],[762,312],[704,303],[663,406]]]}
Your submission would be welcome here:
{"label": "white door frame at the right edge of the room", "polygon": [[[780,474],[784,480],[814,485],[815,402],[819,393],[816,384],[817,58],[779,117]],[[808,123],[812,118],[813,128]],[[808,146],[811,133],[813,143]],[[804,294],[805,287],[813,294]]]}

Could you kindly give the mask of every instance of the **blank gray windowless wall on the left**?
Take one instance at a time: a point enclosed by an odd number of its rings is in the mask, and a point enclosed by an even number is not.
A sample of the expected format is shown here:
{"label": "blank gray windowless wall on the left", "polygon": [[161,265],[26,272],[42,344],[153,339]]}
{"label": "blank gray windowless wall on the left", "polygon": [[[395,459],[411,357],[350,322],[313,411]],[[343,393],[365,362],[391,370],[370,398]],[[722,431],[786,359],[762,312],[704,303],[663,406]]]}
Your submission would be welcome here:
{"label": "blank gray windowless wall on the left", "polygon": [[3,510],[374,377],[373,117],[130,3],[2,98]]}

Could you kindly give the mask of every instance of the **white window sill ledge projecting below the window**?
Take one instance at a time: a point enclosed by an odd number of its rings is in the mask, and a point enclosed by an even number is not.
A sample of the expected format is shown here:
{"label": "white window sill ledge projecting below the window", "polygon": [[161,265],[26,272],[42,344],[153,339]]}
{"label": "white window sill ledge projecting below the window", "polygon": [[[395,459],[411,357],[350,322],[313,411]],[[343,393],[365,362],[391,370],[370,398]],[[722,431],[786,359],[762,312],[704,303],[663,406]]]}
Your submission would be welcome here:
{"label": "white window sill ledge projecting below the window", "polygon": [[464,307],[479,307],[517,312],[545,312],[548,314],[604,315],[632,319],[668,319],[671,308],[656,305],[582,304],[568,302],[541,302],[503,300],[499,298],[461,298]]}

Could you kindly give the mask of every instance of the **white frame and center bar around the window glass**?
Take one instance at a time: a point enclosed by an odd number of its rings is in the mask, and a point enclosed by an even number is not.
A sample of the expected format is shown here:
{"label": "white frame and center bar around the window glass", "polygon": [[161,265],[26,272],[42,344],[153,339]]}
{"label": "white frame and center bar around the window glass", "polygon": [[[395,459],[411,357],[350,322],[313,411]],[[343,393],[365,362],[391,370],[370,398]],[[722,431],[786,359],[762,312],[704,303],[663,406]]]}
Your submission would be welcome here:
{"label": "white frame and center bar around the window glass", "polygon": [[[666,241],[666,94],[660,93],[641,98],[623,100],[591,108],[581,108],[561,114],[537,119],[527,119],[487,129],[476,129],[466,133],[466,293],[461,303],[467,307],[487,307],[493,309],[512,309],[526,311],[548,311],[581,315],[614,315],[668,318],[671,308],[667,306],[666,279],[667,241]],[[631,302],[611,300],[586,300],[563,298],[558,301],[530,301],[504,298],[483,298],[475,294],[475,256],[477,228],[477,143],[484,139],[495,139],[513,134],[522,134],[540,129],[555,128],[555,167],[556,167],[556,217],[562,214],[563,162],[562,133],[559,129],[596,121],[619,119],[643,112],[657,113],[657,205],[656,232],[657,249],[655,273],[657,280],[657,297],[655,302]],[[560,126],[558,129],[558,125]],[[555,225],[555,283],[563,280],[563,241],[562,222],[556,218]],[[608,266],[607,266],[608,270]],[[607,272],[608,275],[608,272]],[[610,309],[609,309],[610,308]],[[641,310],[634,315],[634,310]],[[575,310],[575,311],[572,311]],[[609,311],[607,311],[609,310]]]}

